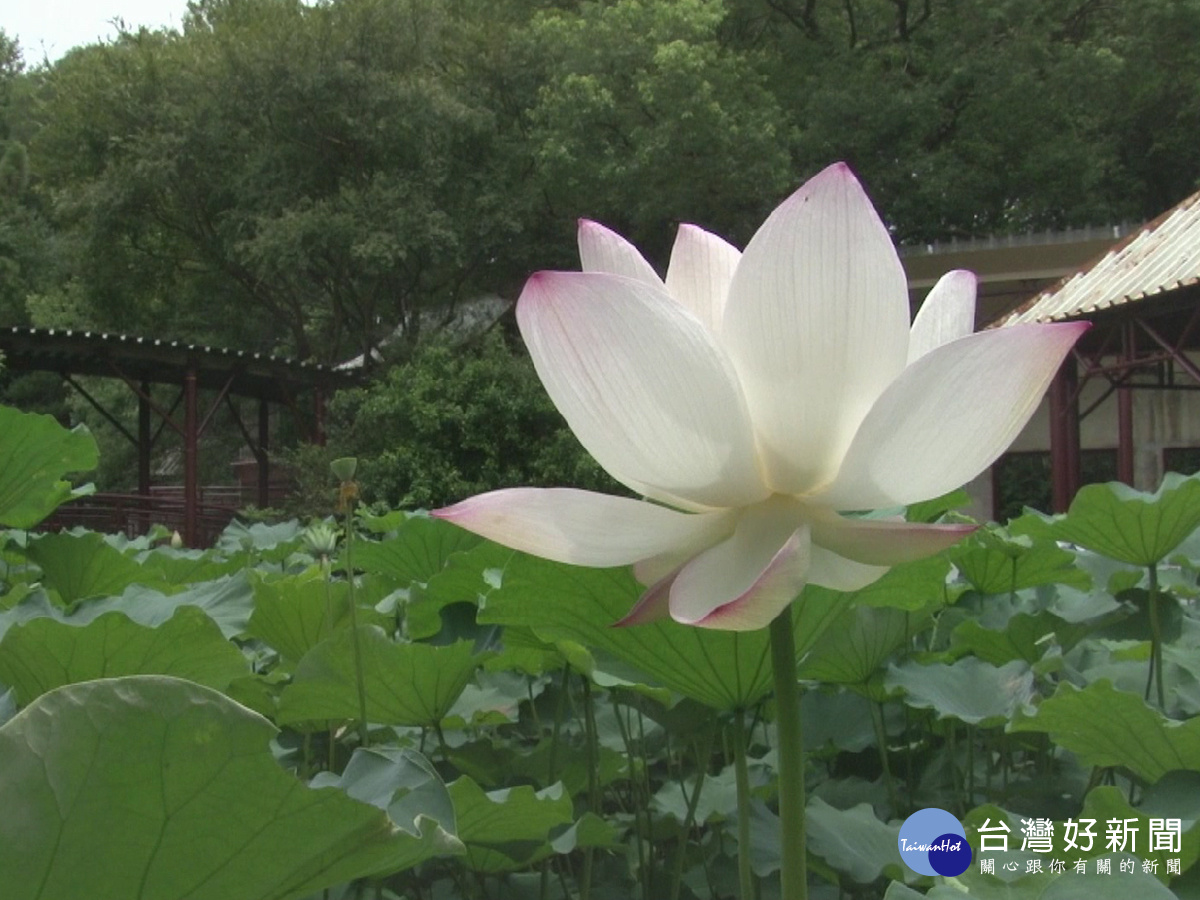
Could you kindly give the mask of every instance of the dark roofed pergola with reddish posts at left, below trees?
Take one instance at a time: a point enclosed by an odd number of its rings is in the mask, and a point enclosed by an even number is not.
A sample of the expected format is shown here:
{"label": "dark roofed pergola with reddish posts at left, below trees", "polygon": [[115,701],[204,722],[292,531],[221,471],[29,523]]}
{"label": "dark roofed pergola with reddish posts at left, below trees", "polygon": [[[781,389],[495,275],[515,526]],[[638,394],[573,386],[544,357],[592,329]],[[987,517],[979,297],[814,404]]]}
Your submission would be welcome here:
{"label": "dark roofed pergola with reddish posts at left, below trees", "polygon": [[[0,331],[5,365],[16,372],[55,372],[92,406],[138,452],[138,493],[150,496],[151,451],[164,428],[175,431],[182,444],[184,528],[187,546],[196,546],[199,510],[199,440],[221,406],[228,408],[258,464],[257,494],[269,504],[270,404],[288,408],[299,431],[314,443],[324,443],[326,397],[338,388],[356,383],[356,373],[266,354],[160,341],[130,335],[61,329],[12,328]],[[132,428],[101,403],[78,380],[79,376],[114,378],[138,400],[137,425]],[[151,385],[179,389],[174,402],[163,404],[151,395]],[[200,391],[215,397],[202,409]],[[258,401],[254,430],[242,420],[232,397]],[[307,407],[311,412],[305,412]],[[157,416],[157,427],[154,418]]]}

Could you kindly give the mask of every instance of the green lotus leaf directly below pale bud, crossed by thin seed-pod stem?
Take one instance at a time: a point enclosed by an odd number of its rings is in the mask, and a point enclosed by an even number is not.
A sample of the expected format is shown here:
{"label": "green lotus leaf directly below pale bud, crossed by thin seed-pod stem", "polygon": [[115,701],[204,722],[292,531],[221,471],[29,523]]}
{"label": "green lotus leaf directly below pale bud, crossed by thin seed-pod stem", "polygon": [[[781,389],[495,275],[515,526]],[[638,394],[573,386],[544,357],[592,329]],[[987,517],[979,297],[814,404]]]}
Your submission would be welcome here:
{"label": "green lotus leaf directly below pale bud, crossed by thin seed-pod stem", "polygon": [[[254,572],[251,583],[254,612],[247,631],[292,662],[350,620],[349,582],[329,581],[317,569],[282,578],[266,578]],[[374,592],[360,590],[355,598],[361,624],[386,624],[386,617],[362,606],[364,601],[377,599],[378,593],[377,587]]]}

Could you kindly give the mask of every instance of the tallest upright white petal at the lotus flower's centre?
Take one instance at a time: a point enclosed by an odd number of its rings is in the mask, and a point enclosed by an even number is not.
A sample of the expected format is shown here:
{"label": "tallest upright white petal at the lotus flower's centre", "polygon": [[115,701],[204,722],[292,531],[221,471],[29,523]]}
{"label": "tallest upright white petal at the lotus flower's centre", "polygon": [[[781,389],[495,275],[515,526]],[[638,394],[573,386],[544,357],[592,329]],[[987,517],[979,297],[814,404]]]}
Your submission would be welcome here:
{"label": "tallest upright white petal at the lotus flower's centre", "polygon": [[768,484],[834,478],[908,354],[908,289],[887,227],[845,164],[782,203],[738,263],[721,340],[742,379]]}

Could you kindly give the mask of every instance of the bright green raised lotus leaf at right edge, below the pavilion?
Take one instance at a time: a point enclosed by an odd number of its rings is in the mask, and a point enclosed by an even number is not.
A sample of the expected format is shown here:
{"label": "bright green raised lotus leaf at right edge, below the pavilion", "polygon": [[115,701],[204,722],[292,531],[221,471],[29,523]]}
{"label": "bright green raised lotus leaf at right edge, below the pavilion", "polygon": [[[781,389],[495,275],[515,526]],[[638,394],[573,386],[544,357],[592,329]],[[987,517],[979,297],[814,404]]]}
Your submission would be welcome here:
{"label": "bright green raised lotus leaf at right edge, below the pavilion", "polygon": [[1200,526],[1200,476],[1168,473],[1152,494],[1120,482],[1087,485],[1054,522],[1060,540],[1134,565],[1164,559]]}

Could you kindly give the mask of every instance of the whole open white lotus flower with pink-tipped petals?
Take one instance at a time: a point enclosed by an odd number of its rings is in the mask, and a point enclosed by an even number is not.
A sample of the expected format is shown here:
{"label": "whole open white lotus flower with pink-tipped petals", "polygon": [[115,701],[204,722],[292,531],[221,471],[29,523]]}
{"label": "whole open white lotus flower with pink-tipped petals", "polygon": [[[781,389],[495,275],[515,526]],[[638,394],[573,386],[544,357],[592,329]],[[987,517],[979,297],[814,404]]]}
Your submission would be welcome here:
{"label": "whole open white lotus flower with pink-tipped petals", "polygon": [[434,515],[588,566],[635,565],[624,623],[767,625],[805,583],[853,590],[972,530],[846,517],[970,481],[1032,415],[1086,323],[971,334],[976,280],[943,277],[908,325],[904,270],[844,164],[744,253],[679,228],[666,280],[594,222],[582,272],[539,272],[517,323],[583,446],[635,500],[494,491]]}

